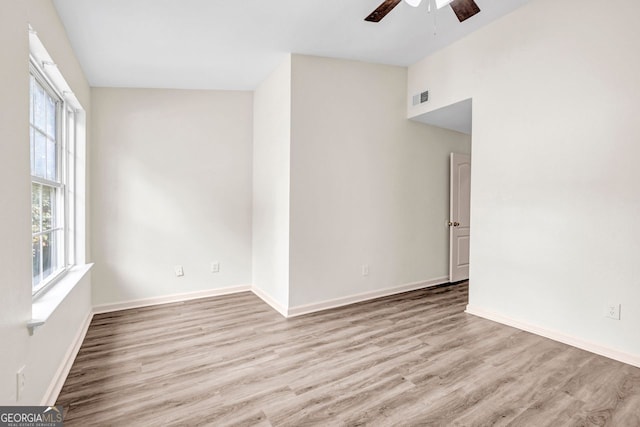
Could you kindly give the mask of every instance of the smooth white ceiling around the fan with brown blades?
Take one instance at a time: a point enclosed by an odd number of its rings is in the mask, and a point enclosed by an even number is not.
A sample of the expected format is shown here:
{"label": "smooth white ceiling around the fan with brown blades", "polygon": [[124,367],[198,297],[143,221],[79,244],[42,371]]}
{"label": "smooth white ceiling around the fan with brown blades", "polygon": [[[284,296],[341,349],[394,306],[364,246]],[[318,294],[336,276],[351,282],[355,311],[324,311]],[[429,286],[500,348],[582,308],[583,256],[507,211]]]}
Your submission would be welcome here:
{"label": "smooth white ceiling around the fan with brown blades", "polygon": [[53,1],[91,86],[251,90],[287,52],[411,65],[528,0],[463,23],[402,2],[377,24],[382,0]]}

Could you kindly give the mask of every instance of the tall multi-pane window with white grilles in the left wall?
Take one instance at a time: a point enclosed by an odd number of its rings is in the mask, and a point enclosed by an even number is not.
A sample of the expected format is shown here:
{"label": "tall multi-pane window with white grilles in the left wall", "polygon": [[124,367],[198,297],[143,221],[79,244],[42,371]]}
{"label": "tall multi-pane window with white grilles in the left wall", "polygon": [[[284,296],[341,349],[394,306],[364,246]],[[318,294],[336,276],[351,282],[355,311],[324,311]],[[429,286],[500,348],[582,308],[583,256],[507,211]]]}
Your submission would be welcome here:
{"label": "tall multi-pane window with white grilles in the left wall", "polygon": [[60,277],[70,265],[69,143],[73,110],[31,65],[29,132],[31,148],[32,293]]}

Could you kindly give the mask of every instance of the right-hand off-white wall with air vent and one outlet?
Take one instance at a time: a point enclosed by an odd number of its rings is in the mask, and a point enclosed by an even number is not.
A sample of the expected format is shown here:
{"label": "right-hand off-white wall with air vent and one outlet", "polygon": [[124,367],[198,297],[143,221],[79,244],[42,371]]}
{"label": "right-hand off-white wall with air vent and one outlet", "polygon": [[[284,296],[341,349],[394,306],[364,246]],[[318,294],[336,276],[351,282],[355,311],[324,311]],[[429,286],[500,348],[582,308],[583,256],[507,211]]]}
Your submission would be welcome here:
{"label": "right-hand off-white wall with air vent and one outlet", "polygon": [[408,82],[431,96],[410,117],[473,97],[470,308],[636,360],[638,14],[627,0],[533,0]]}

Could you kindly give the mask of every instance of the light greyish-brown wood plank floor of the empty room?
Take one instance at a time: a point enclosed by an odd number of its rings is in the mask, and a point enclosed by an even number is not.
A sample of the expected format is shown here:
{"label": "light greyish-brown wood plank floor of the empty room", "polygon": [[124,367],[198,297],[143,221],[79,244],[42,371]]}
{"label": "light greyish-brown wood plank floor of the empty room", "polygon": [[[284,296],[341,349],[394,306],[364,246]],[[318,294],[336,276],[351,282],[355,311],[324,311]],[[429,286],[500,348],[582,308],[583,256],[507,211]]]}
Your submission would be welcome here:
{"label": "light greyish-brown wood plank floor of the empty room", "polygon": [[467,292],[96,315],[58,404],[67,426],[640,426],[640,369],[465,314]]}

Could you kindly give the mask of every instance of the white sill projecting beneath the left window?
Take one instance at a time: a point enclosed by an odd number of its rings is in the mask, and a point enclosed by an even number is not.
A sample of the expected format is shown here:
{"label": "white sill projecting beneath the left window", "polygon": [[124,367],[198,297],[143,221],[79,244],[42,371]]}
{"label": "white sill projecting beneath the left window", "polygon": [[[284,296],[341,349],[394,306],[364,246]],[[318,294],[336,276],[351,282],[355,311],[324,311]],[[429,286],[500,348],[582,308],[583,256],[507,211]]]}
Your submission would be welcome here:
{"label": "white sill projecting beneath the left window", "polygon": [[33,300],[31,306],[31,320],[27,322],[29,334],[44,325],[51,314],[62,304],[62,301],[71,293],[93,264],[76,265],[71,268],[51,289],[39,295]]}

